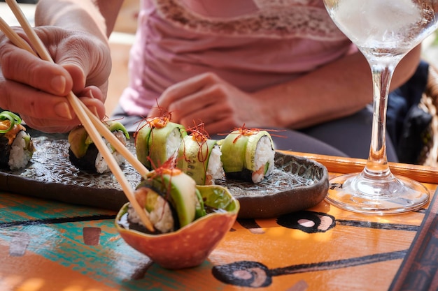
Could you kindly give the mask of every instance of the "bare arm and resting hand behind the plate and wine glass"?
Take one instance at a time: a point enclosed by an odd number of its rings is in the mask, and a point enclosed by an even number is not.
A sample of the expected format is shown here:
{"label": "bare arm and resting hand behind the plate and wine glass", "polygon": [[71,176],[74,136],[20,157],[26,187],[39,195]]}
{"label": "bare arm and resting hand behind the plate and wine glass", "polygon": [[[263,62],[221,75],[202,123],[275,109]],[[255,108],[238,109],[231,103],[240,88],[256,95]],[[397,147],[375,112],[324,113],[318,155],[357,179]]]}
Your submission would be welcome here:
{"label": "bare arm and resting hand behind the plate and wine glass", "polygon": [[[391,89],[414,74],[421,47],[397,66]],[[243,92],[212,73],[192,77],[169,87],[157,100],[172,120],[184,126],[203,122],[206,130],[225,133],[245,124],[248,128],[304,128],[358,112],[372,102],[371,69],[357,52],[321,66],[290,82],[255,93]]]}

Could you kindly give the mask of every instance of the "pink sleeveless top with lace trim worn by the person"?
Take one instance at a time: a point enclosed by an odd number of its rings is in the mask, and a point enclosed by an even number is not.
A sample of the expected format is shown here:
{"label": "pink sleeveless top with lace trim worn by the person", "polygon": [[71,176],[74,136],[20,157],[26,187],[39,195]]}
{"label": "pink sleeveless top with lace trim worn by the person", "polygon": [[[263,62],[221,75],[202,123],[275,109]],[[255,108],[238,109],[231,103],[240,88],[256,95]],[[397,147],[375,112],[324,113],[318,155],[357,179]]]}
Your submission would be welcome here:
{"label": "pink sleeveless top with lace trim worn by the person", "polygon": [[323,0],[142,0],[120,105],[146,117],[164,89],[207,71],[257,91],[351,49]]}

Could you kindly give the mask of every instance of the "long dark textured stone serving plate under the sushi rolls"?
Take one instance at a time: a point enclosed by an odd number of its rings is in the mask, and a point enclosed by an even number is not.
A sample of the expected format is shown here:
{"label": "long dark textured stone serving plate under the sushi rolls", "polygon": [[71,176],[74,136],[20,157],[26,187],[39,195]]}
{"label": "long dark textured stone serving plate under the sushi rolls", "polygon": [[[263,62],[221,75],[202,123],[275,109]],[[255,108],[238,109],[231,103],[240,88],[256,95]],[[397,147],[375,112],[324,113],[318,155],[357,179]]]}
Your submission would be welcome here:
{"label": "long dark textured stone serving plate under the sushi rolls", "polygon": [[[3,169],[0,191],[118,211],[127,202],[113,174],[93,174],[78,170],[69,161],[66,135],[30,132],[36,152],[22,170]],[[127,147],[133,154],[134,139]],[[239,218],[272,218],[313,207],[328,191],[327,169],[306,158],[276,153],[276,167],[260,184],[223,179],[239,200]],[[135,188],[140,175],[134,167],[122,165],[129,184]]]}

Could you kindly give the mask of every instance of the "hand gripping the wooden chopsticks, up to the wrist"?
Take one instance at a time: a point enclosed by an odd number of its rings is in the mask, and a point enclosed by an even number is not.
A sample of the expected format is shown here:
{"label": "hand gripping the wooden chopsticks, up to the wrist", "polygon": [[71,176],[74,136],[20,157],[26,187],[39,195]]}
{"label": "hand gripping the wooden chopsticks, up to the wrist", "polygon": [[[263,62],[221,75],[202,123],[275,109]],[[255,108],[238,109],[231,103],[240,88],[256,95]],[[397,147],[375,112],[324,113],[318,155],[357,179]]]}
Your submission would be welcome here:
{"label": "hand gripping the wooden chopsticks, up to the wrist", "polygon": [[[21,29],[16,29],[23,38]],[[111,70],[106,43],[90,34],[55,27],[35,29],[56,64],[15,47],[0,33],[0,107],[20,114],[25,123],[48,133],[80,124],[66,95],[73,91],[99,118]]]}

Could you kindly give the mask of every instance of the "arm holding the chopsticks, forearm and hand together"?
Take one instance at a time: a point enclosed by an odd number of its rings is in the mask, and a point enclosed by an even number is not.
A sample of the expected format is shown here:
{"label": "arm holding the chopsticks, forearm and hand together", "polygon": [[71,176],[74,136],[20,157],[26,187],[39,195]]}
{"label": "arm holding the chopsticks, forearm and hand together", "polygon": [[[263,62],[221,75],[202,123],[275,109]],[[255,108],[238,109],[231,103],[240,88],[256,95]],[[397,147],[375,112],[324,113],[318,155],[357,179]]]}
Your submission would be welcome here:
{"label": "arm holding the chopsticks, forearm and hand together", "polygon": [[66,132],[80,124],[65,98],[73,91],[104,118],[111,72],[108,36],[121,4],[122,0],[39,0],[35,31],[55,64],[18,49],[0,33],[0,107],[17,112],[32,128]]}

